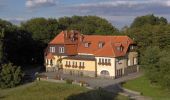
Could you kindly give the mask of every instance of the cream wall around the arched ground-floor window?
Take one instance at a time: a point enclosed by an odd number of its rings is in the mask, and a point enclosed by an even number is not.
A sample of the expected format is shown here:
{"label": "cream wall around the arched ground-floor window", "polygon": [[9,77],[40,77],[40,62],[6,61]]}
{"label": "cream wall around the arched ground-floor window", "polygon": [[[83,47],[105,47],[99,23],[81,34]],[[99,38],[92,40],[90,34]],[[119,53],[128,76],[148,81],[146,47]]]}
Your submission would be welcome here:
{"label": "cream wall around the arched ground-floor window", "polygon": [[[106,70],[109,72],[109,77],[115,77],[115,58],[110,58],[110,57],[95,57],[95,58],[97,61],[96,64],[97,64],[97,75],[98,76],[103,76],[101,75],[101,71]],[[111,65],[101,65],[99,64],[99,59],[110,59]]]}

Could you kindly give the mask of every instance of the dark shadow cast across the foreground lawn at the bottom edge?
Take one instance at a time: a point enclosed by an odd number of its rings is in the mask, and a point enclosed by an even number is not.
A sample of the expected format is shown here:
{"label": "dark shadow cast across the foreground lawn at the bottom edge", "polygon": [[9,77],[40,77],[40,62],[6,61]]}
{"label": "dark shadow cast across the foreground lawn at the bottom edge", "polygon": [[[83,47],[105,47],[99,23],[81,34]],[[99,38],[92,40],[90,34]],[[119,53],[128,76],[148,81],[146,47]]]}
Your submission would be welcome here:
{"label": "dark shadow cast across the foreground lawn at the bottom edge", "polygon": [[117,96],[118,92],[122,91],[121,89],[118,89],[116,91],[107,90],[112,90],[114,88],[117,87],[108,86],[106,88],[98,88],[96,90],[87,91],[85,93],[71,95],[65,100],[119,100]]}

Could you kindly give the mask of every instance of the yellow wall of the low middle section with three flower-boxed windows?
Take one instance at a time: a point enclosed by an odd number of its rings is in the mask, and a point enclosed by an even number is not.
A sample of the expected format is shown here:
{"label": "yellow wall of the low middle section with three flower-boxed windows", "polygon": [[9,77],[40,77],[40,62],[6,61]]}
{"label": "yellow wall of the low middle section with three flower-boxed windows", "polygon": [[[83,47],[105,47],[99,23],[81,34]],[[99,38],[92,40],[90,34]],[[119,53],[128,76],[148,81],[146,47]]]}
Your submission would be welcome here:
{"label": "yellow wall of the low middle section with three flower-boxed windows", "polygon": [[[70,67],[66,66],[66,61],[70,62]],[[75,62],[77,62],[77,67],[72,67],[73,62],[75,64]],[[84,68],[80,68],[80,62],[81,64],[84,62]],[[72,59],[63,59],[62,60],[62,64],[63,64],[63,71],[67,74],[79,74],[79,73],[83,73],[83,75],[85,76],[91,76],[91,77],[95,77],[96,74],[96,65],[95,65],[95,61],[88,61],[88,60],[72,60]],[[67,63],[68,65],[68,63]],[[70,73],[71,72],[71,73]]]}

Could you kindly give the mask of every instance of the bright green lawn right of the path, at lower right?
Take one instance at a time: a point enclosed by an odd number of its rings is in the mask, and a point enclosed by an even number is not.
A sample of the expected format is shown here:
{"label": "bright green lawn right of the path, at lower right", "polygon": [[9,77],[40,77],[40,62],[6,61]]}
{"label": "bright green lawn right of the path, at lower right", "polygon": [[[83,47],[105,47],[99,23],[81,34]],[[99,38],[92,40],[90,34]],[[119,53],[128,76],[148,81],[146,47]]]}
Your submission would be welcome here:
{"label": "bright green lawn right of the path, at lower right", "polygon": [[153,100],[170,100],[170,92],[159,86],[151,85],[145,76],[130,80],[123,87],[141,92],[142,95],[151,97]]}

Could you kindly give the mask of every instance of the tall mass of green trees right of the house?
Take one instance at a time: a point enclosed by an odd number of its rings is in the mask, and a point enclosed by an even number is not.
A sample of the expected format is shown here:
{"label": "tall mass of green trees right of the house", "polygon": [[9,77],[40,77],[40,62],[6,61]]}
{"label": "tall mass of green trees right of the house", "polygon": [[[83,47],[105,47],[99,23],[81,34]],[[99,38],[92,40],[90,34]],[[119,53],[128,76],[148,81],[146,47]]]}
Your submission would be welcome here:
{"label": "tall mass of green trees right of the house", "polygon": [[170,24],[167,20],[153,14],[140,16],[133,21],[131,27],[124,27],[122,33],[137,43],[139,63],[151,83],[169,88]]}

